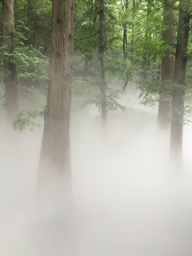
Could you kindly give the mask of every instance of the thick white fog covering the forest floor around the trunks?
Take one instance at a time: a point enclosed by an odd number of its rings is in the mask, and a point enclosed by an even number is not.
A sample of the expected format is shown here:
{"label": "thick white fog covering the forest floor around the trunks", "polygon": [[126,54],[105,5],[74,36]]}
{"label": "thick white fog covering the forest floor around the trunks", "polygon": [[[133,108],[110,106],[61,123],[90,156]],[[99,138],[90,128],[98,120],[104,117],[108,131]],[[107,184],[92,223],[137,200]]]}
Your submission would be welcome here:
{"label": "thick white fog covering the forest floor around the trunks", "polygon": [[192,255],[192,125],[174,170],[156,108],[126,99],[107,114],[105,144],[94,107],[72,114],[72,202],[36,193],[43,127],[9,144],[1,123],[1,256]]}

